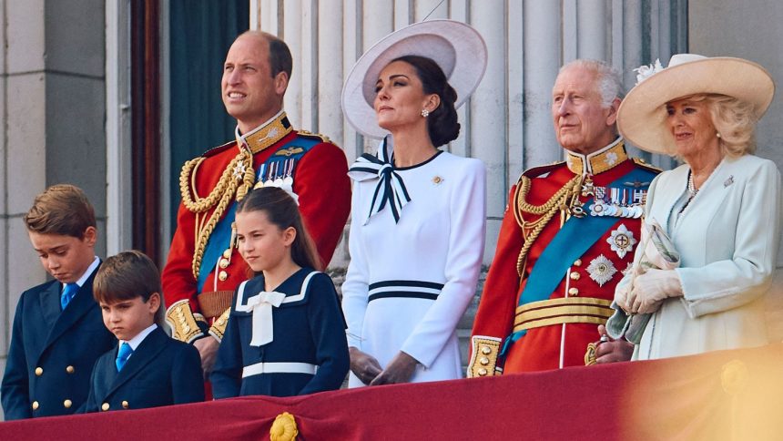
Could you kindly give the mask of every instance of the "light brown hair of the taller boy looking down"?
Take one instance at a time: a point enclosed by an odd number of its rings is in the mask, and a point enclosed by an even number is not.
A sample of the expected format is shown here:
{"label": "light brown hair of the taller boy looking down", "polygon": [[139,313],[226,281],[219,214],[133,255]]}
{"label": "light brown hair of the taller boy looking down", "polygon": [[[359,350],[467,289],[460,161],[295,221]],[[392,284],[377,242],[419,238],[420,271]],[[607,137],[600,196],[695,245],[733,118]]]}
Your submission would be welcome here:
{"label": "light brown hair of the taller boy looking down", "polygon": [[88,227],[96,227],[96,213],[84,191],[69,184],[57,184],[36,196],[25,214],[28,231],[60,234],[84,239]]}

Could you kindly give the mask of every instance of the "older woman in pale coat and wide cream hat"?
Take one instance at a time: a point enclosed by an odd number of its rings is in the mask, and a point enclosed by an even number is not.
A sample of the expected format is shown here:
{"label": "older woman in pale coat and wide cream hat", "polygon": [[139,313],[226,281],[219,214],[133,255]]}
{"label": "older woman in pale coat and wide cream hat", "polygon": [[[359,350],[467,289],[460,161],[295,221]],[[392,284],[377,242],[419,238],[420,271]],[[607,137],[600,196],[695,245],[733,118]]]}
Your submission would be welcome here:
{"label": "older woman in pale coat and wide cream hat", "polygon": [[751,153],[772,79],[744,59],[679,54],[666,68],[643,68],[639,80],[618,111],[620,132],[685,163],[658,175],[646,200],[646,221],[666,231],[679,267],[650,269],[633,286],[628,272],[615,292],[625,311],[653,313],[634,358],[767,344],[763,297],[778,255],[780,173]]}

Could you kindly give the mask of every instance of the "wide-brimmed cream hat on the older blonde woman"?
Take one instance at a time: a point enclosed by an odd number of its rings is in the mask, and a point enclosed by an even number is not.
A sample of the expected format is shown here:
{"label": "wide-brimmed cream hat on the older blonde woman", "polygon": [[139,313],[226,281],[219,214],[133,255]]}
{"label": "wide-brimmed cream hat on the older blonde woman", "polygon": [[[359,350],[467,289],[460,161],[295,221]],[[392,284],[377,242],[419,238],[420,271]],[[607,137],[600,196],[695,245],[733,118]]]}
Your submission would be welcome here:
{"label": "wide-brimmed cream hat on the older blonde woman", "polygon": [[636,87],[623,99],[617,128],[639,149],[674,155],[675,139],[666,125],[666,103],[696,94],[721,94],[752,104],[761,118],[775,95],[764,67],[730,56],[676,54],[666,68],[659,62],[636,69]]}

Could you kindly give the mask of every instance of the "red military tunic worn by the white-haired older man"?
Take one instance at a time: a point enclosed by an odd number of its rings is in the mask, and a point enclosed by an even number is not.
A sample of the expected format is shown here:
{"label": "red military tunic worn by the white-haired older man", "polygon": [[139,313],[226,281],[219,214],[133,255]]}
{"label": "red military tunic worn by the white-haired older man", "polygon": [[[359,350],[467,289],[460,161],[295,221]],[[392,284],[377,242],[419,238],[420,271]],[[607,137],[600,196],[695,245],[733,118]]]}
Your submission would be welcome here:
{"label": "red military tunic worn by the white-haired older man", "polygon": [[[614,311],[609,304],[614,298],[615,285],[633,262],[633,251],[640,239],[641,220],[638,218],[617,217],[615,224],[590,245],[566,272],[552,274],[561,280],[548,300],[527,303],[518,308],[519,295],[524,290],[527,277],[565,221],[564,210],[555,209],[556,214],[545,223],[527,253],[522,272],[524,277],[521,278],[518,259],[525,236],[533,233],[537,220],[544,222],[545,214],[521,210],[520,200],[532,206],[542,206],[569,181],[574,182],[572,179],[577,175],[589,177],[596,187],[605,187],[636,167],[651,169],[640,161],[628,159],[619,139],[586,157],[570,151],[567,154],[566,162],[525,172],[523,176],[530,179],[526,194],[519,194],[522,178],[511,190],[494,260],[473,323],[468,376],[583,365],[587,344],[597,339],[597,325],[605,323]],[[578,198],[582,203],[591,199],[581,194]],[[589,204],[585,204],[585,210],[588,207]],[[526,227],[524,230],[522,222]],[[514,332],[515,327],[519,330],[524,326],[529,326],[526,334],[510,343],[507,353],[499,359],[506,337]]]}

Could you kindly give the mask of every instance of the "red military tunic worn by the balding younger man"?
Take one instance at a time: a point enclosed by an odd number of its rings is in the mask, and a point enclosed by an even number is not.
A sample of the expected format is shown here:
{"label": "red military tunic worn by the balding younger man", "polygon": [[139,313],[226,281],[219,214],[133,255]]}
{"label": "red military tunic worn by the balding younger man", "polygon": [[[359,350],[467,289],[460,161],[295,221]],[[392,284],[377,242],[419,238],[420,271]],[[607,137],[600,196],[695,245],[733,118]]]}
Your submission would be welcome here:
{"label": "red military tunic worn by the balding younger man", "polygon": [[[236,170],[233,176],[241,181],[243,169],[236,164],[232,165],[231,162],[238,157],[242,142],[247,143],[253,152],[253,169],[258,170],[260,165],[272,155],[285,154],[285,152],[276,152],[290,141],[295,141],[296,138],[311,140],[313,137],[318,137],[317,144],[295,162],[293,190],[299,196],[300,211],[305,226],[315,242],[321,261],[326,265],[330,262],[334,249],[340,241],[351,210],[348,161],[342,150],[328,140],[318,135],[291,129],[285,112],[280,112],[278,116],[244,136],[239,136],[238,133],[237,141],[209,150],[196,167],[191,167],[189,173],[183,173],[180,177],[180,190],[184,193],[189,192],[189,197],[195,201],[198,201],[198,198],[207,198],[227,169]],[[295,146],[296,143],[292,145]],[[229,170],[229,173],[232,171]],[[236,191],[228,197],[229,202],[234,203]],[[215,304],[201,304],[206,298],[199,302],[200,292],[197,292],[193,265],[194,253],[197,251],[198,231],[208,223],[209,216],[218,205],[219,203],[216,202],[208,210],[195,213],[188,210],[184,203],[180,204],[177,231],[171,241],[168,262],[161,274],[163,292],[168,304],[167,321],[174,330],[174,337],[185,342],[192,342],[205,335],[208,319],[219,316],[219,319],[208,329],[208,333],[221,339],[225,330],[227,316],[223,312],[228,312],[228,309],[224,308],[223,302],[220,302],[219,307]],[[224,216],[225,213],[221,214],[220,219]],[[201,248],[203,249],[203,246]],[[229,241],[225,246],[221,245],[221,250],[228,249]],[[224,257],[227,254],[228,251]],[[228,303],[225,306],[228,307],[231,293],[240,282],[248,280],[252,274],[236,247],[231,247],[228,259],[220,259],[220,261],[224,260],[228,261],[226,262],[228,264],[217,272],[213,269],[209,273],[202,291],[226,293]],[[203,264],[216,267],[216,263],[204,262]],[[205,309],[216,311],[216,308],[218,313],[202,314]],[[205,317],[205,315],[209,316]]]}

